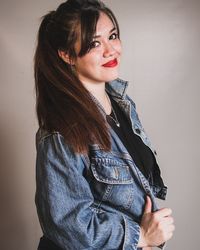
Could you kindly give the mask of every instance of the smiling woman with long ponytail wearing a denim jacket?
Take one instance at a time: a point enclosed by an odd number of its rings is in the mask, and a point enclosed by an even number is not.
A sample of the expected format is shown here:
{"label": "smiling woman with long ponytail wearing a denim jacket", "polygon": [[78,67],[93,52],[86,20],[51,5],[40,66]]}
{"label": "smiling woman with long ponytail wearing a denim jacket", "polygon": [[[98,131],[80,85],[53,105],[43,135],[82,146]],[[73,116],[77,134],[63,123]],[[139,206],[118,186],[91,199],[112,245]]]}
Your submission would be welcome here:
{"label": "smiling woman with long ponytail wearing a denim jacket", "polygon": [[44,16],[35,54],[38,249],[150,249],[172,237],[155,151],[118,79],[119,27],[97,0]]}

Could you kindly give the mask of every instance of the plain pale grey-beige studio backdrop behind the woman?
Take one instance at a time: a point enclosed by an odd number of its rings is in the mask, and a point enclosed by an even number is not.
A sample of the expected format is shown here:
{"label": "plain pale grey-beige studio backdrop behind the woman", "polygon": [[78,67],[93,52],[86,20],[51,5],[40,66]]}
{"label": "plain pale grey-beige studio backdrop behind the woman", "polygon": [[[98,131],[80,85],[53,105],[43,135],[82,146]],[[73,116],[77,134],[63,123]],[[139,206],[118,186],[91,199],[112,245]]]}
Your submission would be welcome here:
{"label": "plain pale grey-beige studio backdrop behind the woman", "polygon": [[[169,250],[199,249],[199,0],[106,0],[121,27],[121,77],[129,80],[158,152],[173,209]],[[0,248],[35,250],[33,54],[39,18],[56,0],[0,2]]]}

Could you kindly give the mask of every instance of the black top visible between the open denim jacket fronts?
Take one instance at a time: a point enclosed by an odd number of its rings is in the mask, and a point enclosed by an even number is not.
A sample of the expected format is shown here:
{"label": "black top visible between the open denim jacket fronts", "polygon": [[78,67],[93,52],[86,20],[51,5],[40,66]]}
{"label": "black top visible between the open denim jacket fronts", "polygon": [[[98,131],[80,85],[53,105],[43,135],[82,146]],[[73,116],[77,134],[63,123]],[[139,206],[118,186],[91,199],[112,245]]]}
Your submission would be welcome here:
{"label": "black top visible between the open denim jacket fronts", "polygon": [[[110,98],[110,100],[114,112],[112,110],[112,113],[106,116],[107,122],[119,136],[136,166],[148,179],[150,184],[164,186],[160,177],[159,167],[151,149],[146,146],[142,139],[133,132],[131,121],[128,119],[122,109],[120,109],[117,102],[115,102],[112,98]],[[116,120],[115,115],[117,116],[117,120],[120,123],[120,127],[118,127],[116,122],[114,122],[114,120]]]}

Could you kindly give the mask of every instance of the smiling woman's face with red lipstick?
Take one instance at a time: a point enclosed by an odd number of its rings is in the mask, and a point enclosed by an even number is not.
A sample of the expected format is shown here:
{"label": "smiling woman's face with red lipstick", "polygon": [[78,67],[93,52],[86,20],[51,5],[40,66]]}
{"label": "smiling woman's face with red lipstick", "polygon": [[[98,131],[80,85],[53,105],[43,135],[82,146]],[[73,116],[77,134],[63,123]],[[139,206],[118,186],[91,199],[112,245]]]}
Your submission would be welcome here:
{"label": "smiling woman's face with red lipstick", "polygon": [[[80,43],[76,46],[80,50]],[[85,85],[112,81],[118,77],[121,42],[110,18],[101,13],[90,51],[74,63],[79,79]]]}

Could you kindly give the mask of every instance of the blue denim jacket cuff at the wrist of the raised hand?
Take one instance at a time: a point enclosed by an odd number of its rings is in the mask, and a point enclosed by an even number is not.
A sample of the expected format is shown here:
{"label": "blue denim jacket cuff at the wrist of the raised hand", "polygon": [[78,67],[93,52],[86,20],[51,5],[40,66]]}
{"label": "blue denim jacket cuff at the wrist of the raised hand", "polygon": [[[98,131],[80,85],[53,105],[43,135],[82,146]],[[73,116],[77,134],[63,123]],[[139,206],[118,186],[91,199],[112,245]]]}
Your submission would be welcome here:
{"label": "blue denim jacket cuff at the wrist of the raised hand", "polygon": [[124,238],[124,250],[137,250],[138,241],[140,237],[140,226],[130,220],[128,217],[124,217],[125,220],[125,238]]}

